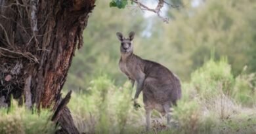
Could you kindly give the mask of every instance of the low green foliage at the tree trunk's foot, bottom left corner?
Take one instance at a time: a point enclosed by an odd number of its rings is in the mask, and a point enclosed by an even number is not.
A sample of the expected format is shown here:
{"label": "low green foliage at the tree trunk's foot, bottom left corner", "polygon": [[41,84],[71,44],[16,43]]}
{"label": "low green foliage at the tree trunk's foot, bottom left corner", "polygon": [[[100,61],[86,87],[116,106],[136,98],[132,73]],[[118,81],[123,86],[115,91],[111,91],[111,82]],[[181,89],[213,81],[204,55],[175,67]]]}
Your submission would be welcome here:
{"label": "low green foliage at the tree trunk's foot, bottom left corner", "polygon": [[0,133],[54,133],[56,128],[50,117],[49,110],[42,109],[38,114],[37,111],[32,112],[25,107],[18,107],[18,104],[13,101],[9,110],[0,109]]}

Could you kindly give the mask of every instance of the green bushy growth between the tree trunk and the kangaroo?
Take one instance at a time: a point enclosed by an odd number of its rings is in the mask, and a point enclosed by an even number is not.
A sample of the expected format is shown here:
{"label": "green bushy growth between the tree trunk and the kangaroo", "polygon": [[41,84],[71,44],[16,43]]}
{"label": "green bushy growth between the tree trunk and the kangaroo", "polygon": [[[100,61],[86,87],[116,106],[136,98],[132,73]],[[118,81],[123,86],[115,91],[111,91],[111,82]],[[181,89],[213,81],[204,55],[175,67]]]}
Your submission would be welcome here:
{"label": "green bushy growth between the tree trunk and the kangaroo", "polygon": [[141,122],[144,113],[133,109],[129,82],[117,87],[102,75],[90,82],[88,90],[87,94],[74,93],[68,104],[81,133],[133,133],[142,127],[134,124]]}

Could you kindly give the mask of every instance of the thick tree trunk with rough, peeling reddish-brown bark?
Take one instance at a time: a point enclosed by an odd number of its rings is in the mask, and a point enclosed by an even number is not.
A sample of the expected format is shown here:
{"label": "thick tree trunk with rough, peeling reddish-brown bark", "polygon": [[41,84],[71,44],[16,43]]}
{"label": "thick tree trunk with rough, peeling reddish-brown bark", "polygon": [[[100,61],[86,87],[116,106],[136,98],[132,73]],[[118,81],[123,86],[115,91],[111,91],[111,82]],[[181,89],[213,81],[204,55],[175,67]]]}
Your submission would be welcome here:
{"label": "thick tree trunk with rough, peeling reddish-brown bark", "polygon": [[0,0],[0,105],[10,105],[11,95],[29,108],[57,104],[94,4]]}

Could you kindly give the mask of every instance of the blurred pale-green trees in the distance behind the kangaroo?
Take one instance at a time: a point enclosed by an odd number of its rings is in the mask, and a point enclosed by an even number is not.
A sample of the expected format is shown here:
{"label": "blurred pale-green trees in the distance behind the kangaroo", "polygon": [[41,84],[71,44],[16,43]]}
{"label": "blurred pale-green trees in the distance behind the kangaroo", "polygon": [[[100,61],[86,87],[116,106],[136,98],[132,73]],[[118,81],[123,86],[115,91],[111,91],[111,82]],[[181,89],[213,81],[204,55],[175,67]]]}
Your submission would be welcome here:
{"label": "blurred pale-green trees in the distance behind the kangaroo", "polygon": [[[142,1],[143,2],[143,1]],[[144,1],[148,7],[158,1]],[[232,73],[238,75],[247,66],[256,71],[255,1],[175,0],[167,1],[161,14],[140,10],[110,8],[110,1],[96,1],[95,10],[84,31],[84,44],[75,53],[65,88],[86,90],[89,81],[102,73],[117,85],[126,77],[118,68],[119,45],[116,32],[125,36],[135,31],[135,54],[157,61],[176,73],[182,81],[211,56],[226,57]]]}

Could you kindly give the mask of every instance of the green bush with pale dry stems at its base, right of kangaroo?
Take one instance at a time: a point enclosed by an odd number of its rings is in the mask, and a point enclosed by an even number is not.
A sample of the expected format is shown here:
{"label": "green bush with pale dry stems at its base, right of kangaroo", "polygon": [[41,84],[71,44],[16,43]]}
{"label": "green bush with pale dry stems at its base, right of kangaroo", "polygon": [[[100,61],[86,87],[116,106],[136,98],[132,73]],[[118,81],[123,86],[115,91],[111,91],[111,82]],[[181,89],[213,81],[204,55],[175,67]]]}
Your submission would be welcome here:
{"label": "green bush with pale dry stems at its base, right of kangaroo", "polygon": [[226,118],[238,111],[233,98],[234,76],[226,58],[210,59],[191,76],[191,83],[199,98],[198,103],[206,112],[214,110],[217,118]]}

